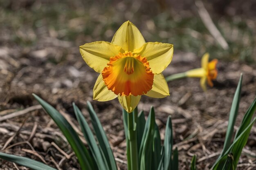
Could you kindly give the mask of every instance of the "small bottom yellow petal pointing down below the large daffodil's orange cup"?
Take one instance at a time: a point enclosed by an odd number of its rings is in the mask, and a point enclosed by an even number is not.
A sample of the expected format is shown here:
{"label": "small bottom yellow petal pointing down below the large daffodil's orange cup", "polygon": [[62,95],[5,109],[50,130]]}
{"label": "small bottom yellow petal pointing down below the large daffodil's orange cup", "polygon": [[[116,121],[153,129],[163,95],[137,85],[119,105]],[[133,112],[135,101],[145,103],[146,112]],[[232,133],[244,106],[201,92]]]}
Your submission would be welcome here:
{"label": "small bottom yellow petal pointing down below the large daffodil's orange cup", "polygon": [[136,106],[139,104],[139,100],[140,100],[141,96],[133,96],[133,95],[129,95],[129,96],[118,96],[118,100],[121,104],[121,106],[128,112],[131,113]]}

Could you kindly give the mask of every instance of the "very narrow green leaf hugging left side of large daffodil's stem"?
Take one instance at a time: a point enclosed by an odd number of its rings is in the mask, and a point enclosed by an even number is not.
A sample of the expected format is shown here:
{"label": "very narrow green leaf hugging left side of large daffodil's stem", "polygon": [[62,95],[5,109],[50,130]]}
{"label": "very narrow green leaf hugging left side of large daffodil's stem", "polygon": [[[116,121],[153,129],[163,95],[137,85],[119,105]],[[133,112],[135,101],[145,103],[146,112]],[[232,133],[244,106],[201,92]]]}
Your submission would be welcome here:
{"label": "very narrow green leaf hugging left side of large daffodil's stem", "polygon": [[130,142],[128,138],[128,112],[123,109],[123,121],[124,121],[124,134],[126,138],[126,155],[127,155],[127,169],[131,170],[130,160]]}

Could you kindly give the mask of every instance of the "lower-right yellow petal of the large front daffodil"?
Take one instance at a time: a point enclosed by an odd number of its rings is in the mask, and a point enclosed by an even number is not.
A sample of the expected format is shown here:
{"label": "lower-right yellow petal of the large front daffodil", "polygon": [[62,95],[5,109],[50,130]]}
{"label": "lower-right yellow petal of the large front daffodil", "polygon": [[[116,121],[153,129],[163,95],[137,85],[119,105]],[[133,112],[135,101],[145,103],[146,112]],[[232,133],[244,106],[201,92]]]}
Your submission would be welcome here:
{"label": "lower-right yellow petal of the large front daffodil", "polygon": [[169,87],[162,73],[154,75],[152,89],[145,95],[154,98],[164,98],[169,95]]}

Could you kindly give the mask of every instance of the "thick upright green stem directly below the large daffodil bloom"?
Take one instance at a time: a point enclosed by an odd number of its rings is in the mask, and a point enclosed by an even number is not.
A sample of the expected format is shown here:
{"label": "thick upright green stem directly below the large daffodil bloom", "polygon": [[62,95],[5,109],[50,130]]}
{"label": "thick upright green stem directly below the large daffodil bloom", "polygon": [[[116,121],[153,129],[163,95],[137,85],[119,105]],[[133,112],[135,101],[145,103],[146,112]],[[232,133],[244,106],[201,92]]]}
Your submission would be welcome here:
{"label": "thick upright green stem directly below the large daffodil bloom", "polygon": [[130,165],[131,170],[139,170],[138,146],[137,146],[137,107],[132,113],[128,113],[128,139],[130,144]]}

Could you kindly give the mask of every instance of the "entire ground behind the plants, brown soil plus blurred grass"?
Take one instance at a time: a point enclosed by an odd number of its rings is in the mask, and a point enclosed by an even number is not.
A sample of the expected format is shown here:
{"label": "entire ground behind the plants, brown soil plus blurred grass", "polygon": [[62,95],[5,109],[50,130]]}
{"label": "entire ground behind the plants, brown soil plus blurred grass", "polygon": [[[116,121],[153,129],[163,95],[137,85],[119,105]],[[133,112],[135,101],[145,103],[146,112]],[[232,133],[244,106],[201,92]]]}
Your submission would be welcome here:
{"label": "entire ground behind the plants, brown soil plus blurred grass", "polygon": [[[214,87],[206,93],[200,88],[199,79],[181,79],[168,83],[169,97],[153,99],[143,96],[138,105],[139,110],[145,110],[146,116],[150,106],[155,106],[162,140],[167,117],[172,116],[174,144],[179,150],[179,170],[189,170],[195,154],[198,157],[198,170],[209,170],[217,159],[217,156],[209,155],[220,152],[224,143],[229,110],[240,73],[244,75],[243,88],[235,129],[256,96],[256,65],[252,63],[256,61],[255,2],[214,0],[212,4],[206,4],[204,1],[230,44],[229,51],[224,51],[200,22],[194,1],[106,2],[0,2],[0,119],[38,105],[31,95],[35,93],[60,110],[79,129],[72,102],[81,108],[90,122],[86,110],[86,101],[89,100],[106,130],[120,170],[126,170],[122,108],[117,99],[109,102],[92,100],[92,89],[98,73],[85,64],[79,53],[79,45],[111,40],[116,28],[132,18],[146,40],[172,42],[174,48],[182,50],[175,49],[173,61],[164,71],[165,76],[200,67],[200,56],[195,53],[210,51],[211,58],[220,59],[219,75]],[[170,13],[162,13],[164,10]],[[240,29],[247,30],[247,27],[252,31],[240,32]],[[213,56],[213,53],[220,55]],[[225,58],[222,59],[222,56]],[[241,62],[247,61],[243,60],[243,56],[252,59],[248,60],[250,65]],[[8,140],[11,137],[13,139]],[[66,158],[55,144],[70,158]],[[31,150],[34,152],[31,153]],[[38,108],[22,116],[0,121],[0,152],[45,161],[49,166],[59,166],[63,170],[79,169],[65,137],[49,115]],[[254,155],[254,158],[245,152]],[[239,160],[238,170],[256,170],[255,155],[254,125]],[[0,169],[17,168],[15,164],[0,159]],[[27,168],[18,166],[18,169]]]}

